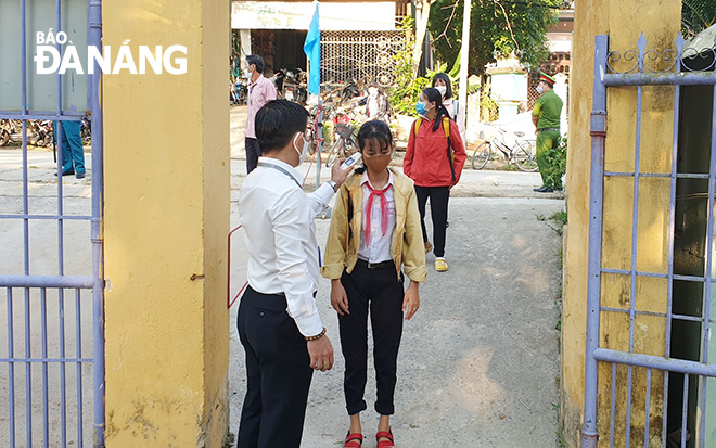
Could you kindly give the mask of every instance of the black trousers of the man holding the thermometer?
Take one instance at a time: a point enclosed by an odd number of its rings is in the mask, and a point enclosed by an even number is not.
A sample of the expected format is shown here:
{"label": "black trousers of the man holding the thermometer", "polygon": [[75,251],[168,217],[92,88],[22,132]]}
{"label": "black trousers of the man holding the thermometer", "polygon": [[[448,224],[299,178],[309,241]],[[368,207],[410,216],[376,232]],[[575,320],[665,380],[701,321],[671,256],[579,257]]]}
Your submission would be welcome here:
{"label": "black trousers of the man holding the thermometer", "polygon": [[298,448],[314,370],[306,340],[286,311],[285,296],[248,286],[236,323],[247,376],[236,446]]}

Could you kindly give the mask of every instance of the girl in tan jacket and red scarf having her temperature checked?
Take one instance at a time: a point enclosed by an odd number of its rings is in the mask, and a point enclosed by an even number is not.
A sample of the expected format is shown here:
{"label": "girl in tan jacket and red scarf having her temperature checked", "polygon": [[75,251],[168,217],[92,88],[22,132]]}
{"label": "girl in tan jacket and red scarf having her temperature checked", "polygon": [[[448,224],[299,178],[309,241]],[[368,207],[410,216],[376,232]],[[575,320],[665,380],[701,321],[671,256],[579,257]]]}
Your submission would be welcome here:
{"label": "girl in tan jacket and red scarf having her temperature checked", "polygon": [[[378,383],[378,448],[394,446],[391,415],[397,382],[402,319],[420,307],[425,252],[412,181],[388,168],[395,144],[387,125],[368,121],[358,131],[363,168],[341,187],[325,245],[323,277],[331,279],[331,305],[338,313],[346,362],[344,393],[350,417],[345,448],[360,448],[360,412],[368,368],[368,317],[373,329]],[[404,290],[404,272],[410,283]],[[404,315],[405,313],[405,315]]]}

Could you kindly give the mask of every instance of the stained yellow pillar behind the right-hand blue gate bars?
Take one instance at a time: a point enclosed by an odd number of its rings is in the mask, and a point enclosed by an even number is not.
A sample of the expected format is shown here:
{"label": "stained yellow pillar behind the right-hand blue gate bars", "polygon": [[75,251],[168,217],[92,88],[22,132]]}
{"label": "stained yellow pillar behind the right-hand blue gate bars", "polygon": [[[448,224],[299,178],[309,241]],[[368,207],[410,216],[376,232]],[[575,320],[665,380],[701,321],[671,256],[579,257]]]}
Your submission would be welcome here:
{"label": "stained yellow pillar behind the right-hand blue gate bars", "polygon": [[[587,268],[589,243],[589,172],[591,138],[589,118],[592,106],[594,36],[609,34],[610,50],[624,52],[637,48],[640,33],[644,33],[648,48],[666,49],[680,26],[680,2],[672,0],[590,0],[579,1],[575,11],[572,74],[570,81],[570,153],[567,159],[567,212],[570,217],[566,255],[564,306],[562,317],[562,425],[567,446],[579,445],[581,411],[584,406],[585,333],[587,306]],[[625,63],[625,61],[622,61]],[[617,65],[616,68],[624,67]],[[634,170],[636,142],[636,88],[611,89],[608,95],[608,137],[605,168],[614,171]],[[670,171],[674,90],[650,87],[643,89],[641,129],[641,170]],[[639,196],[639,239],[637,241],[637,269],[666,272],[668,235],[668,181],[642,179]],[[631,267],[631,206],[632,179],[609,179],[604,184],[604,267]],[[666,207],[664,207],[664,203]],[[606,306],[629,307],[630,282],[618,276],[602,277],[602,300]],[[661,311],[665,303],[666,283],[659,279],[639,280],[637,309]],[[626,300],[626,302],[625,302]],[[628,317],[602,312],[600,346],[627,349]],[[663,320],[638,318],[635,350],[650,355],[664,353]],[[617,383],[626,384],[626,368],[619,368]],[[609,398],[611,368],[601,367],[600,409],[598,425],[600,446],[609,444]],[[635,370],[635,405],[632,434],[643,437],[643,371]],[[651,412],[652,434],[661,431],[663,379],[652,377]],[[625,388],[617,387],[617,399],[624,398]],[[617,421],[625,421],[626,407],[617,406]],[[641,428],[641,432],[639,431]],[[624,423],[617,423],[616,440],[623,437]],[[622,438],[623,439],[623,438]],[[642,438],[639,438],[642,440]]]}

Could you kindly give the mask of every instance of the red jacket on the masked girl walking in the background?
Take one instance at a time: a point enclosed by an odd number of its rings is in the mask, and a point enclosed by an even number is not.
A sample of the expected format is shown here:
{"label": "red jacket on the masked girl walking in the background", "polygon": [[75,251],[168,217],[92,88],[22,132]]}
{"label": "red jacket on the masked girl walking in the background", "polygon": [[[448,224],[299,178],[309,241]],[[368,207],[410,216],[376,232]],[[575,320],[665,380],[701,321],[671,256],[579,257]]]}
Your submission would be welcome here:
{"label": "red jacket on the masked girl walking in the background", "polygon": [[455,151],[455,182],[448,158],[447,139],[443,124],[433,131],[435,120],[422,120],[415,136],[415,126],[410,126],[410,139],[406,157],[402,161],[402,171],[415,182],[418,187],[451,187],[460,181],[462,167],[468,153],[460,137],[458,125],[450,121],[450,144]]}

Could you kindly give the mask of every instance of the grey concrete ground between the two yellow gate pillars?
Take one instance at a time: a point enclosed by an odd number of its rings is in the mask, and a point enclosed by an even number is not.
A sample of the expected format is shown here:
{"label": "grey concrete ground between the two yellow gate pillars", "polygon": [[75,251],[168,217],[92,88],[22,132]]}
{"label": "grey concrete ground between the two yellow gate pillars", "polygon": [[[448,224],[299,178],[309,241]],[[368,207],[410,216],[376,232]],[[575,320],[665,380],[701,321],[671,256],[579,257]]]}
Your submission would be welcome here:
{"label": "grey concrete ground between the two yellow gate pillars", "polygon": [[[234,112],[235,111],[235,112]],[[232,108],[232,115],[238,114]],[[232,119],[232,128],[236,129]],[[243,136],[232,136],[232,223],[245,175]],[[399,168],[401,161],[395,161]],[[307,191],[316,168],[306,163]],[[322,169],[321,179],[328,171]],[[535,193],[539,174],[462,172],[452,190],[446,258],[437,273],[426,257],[421,309],[404,327],[398,359],[397,447],[549,448],[559,446],[559,331],[561,235],[549,216],[564,208],[563,193]],[[545,219],[547,218],[547,219]],[[329,220],[317,220],[324,244]],[[426,226],[432,228],[430,217]],[[429,231],[432,233],[432,231]],[[232,253],[244,246],[235,233]],[[245,281],[245,258],[232,260],[232,284]],[[317,300],[336,353],[328,373],[314,375],[302,447],[341,446],[348,427],[343,399],[343,357],[337,318],[322,280]],[[244,353],[231,309],[231,431],[239,426],[245,394]],[[370,364],[370,362],[369,362]],[[363,448],[376,446],[374,374],[369,368]]]}

